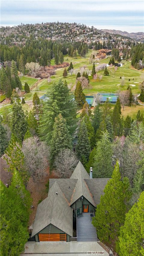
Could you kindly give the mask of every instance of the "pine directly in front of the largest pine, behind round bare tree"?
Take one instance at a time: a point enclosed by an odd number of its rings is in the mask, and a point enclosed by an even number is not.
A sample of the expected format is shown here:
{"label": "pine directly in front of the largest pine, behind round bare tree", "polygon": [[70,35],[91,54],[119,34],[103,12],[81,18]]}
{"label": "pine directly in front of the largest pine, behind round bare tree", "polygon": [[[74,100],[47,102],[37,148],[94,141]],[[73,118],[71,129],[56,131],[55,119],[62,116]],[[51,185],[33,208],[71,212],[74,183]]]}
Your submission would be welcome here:
{"label": "pine directly in front of the largest pine, behind round bare tree", "polygon": [[50,162],[51,166],[54,162],[55,156],[62,149],[71,149],[72,139],[67,128],[66,120],[59,114],[55,117],[55,122],[53,125],[52,139],[50,143]]}

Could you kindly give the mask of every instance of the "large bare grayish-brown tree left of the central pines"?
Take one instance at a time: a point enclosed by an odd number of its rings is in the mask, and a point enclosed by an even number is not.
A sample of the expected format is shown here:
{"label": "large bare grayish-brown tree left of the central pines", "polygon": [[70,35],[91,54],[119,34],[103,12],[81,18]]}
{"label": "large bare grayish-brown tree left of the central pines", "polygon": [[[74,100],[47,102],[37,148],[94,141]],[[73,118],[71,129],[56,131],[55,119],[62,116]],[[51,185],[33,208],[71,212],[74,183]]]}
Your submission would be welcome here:
{"label": "large bare grayish-brown tree left of the central pines", "polygon": [[26,170],[34,181],[46,175],[48,167],[49,148],[38,137],[30,137],[23,141],[22,152]]}

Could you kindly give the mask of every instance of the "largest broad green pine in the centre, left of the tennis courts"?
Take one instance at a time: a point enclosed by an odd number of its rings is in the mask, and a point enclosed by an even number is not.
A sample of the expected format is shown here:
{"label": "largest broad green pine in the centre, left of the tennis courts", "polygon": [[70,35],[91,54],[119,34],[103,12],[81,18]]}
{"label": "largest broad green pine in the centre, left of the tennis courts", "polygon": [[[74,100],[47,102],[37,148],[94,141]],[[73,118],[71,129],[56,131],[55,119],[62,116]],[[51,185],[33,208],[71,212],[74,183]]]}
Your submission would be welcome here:
{"label": "largest broad green pine in the centre, left of the tennis courts", "polygon": [[48,97],[49,100],[45,102],[40,117],[39,134],[41,139],[50,145],[53,124],[59,113],[66,119],[70,134],[74,133],[76,129],[76,103],[73,101],[73,95],[70,93],[67,83],[61,79],[49,88]]}

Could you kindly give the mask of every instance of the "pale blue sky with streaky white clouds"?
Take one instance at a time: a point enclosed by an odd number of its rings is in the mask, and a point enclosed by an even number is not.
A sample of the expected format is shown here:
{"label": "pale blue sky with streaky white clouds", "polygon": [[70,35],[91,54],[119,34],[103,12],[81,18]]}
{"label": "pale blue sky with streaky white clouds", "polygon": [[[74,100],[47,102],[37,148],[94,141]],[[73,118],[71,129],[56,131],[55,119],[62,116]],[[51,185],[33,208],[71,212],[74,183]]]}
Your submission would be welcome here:
{"label": "pale blue sky with streaky white clouds", "polygon": [[144,32],[143,0],[1,0],[1,26],[76,22],[97,29]]}

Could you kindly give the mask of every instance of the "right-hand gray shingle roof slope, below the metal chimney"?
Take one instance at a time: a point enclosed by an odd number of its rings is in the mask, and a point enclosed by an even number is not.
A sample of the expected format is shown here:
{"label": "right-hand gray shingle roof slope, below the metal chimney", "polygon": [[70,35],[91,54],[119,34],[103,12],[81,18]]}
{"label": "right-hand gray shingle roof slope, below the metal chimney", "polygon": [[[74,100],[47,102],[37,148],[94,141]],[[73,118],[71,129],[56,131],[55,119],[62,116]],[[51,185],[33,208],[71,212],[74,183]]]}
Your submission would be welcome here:
{"label": "right-hand gray shingle roof slope, below the metal chimney", "polygon": [[104,188],[110,179],[85,179],[85,182],[89,188],[90,193],[93,195],[94,201],[97,204],[100,203],[101,195],[104,194]]}

